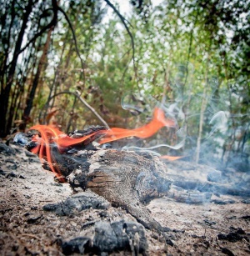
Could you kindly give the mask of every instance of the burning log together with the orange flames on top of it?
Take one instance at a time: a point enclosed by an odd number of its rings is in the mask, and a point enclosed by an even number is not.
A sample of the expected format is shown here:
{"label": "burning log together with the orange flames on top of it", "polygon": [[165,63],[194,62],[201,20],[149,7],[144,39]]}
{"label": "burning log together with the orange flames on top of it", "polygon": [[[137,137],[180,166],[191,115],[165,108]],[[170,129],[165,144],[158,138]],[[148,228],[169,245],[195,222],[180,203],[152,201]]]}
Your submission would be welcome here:
{"label": "burning log together with the orange flames on top of it", "polygon": [[[19,133],[14,140],[24,142],[29,151],[36,153],[59,182],[68,181],[73,190],[90,188],[112,205],[126,208],[146,228],[160,232],[160,225],[150,218],[142,203],[168,193],[172,181],[167,168],[150,153],[99,146],[128,137],[148,138],[163,127],[178,126],[174,119],[165,118],[163,109],[155,108],[152,120],[141,128],[96,127],[67,135],[52,126],[36,125],[27,134]],[[94,140],[98,140],[99,146],[92,145]]]}

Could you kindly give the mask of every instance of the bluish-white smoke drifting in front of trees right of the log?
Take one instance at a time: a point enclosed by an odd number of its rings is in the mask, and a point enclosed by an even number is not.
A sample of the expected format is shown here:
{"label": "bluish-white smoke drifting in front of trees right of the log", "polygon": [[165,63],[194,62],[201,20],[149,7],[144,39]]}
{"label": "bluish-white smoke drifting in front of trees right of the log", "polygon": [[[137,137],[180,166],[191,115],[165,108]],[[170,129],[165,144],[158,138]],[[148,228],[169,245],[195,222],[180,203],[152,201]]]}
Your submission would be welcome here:
{"label": "bluish-white smoke drifting in front of trees right of the log", "polygon": [[[202,202],[209,198],[208,193],[249,196],[250,115],[248,108],[237,108],[240,102],[249,103],[248,97],[219,88],[216,77],[208,77],[194,88],[198,83],[193,81],[193,73],[191,63],[174,67],[168,81],[171,92],[165,92],[160,100],[147,93],[124,94],[122,108],[132,113],[134,123],[145,123],[157,107],[166,118],[175,120],[177,128],[162,128],[147,140],[130,139],[122,150],[146,151],[158,157],[183,156],[168,162],[174,170],[170,172],[173,180],[179,181],[174,182],[175,195],[191,189],[198,194],[188,193],[188,198],[197,196]],[[198,163],[205,165],[195,163],[197,155]],[[187,166],[190,170],[185,170]],[[182,197],[183,191],[179,194]]]}

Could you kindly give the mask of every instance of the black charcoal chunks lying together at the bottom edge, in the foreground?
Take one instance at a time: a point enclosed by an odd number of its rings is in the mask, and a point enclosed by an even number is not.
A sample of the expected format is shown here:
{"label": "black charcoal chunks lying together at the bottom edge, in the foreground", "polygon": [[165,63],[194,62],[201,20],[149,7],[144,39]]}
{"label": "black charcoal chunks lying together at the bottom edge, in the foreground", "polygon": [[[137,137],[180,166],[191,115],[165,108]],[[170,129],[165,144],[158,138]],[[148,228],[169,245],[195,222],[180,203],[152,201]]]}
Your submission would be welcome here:
{"label": "black charcoal chunks lying together at the bottom edge, in the foreground", "polygon": [[77,237],[62,241],[62,253],[112,253],[118,251],[145,254],[148,242],[144,228],[135,222],[104,222],[99,221],[94,225],[93,238]]}

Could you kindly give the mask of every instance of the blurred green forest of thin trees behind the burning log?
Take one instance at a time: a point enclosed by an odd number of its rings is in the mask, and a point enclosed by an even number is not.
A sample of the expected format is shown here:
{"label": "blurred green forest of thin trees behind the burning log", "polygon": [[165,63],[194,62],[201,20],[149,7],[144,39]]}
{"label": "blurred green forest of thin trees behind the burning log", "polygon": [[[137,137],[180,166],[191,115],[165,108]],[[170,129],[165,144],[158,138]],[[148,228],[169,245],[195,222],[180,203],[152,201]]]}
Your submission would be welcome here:
{"label": "blurred green forest of thin trees behind the burning log", "polygon": [[124,1],[0,0],[0,138],[137,128],[161,106],[179,128],[133,146],[248,171],[250,1]]}

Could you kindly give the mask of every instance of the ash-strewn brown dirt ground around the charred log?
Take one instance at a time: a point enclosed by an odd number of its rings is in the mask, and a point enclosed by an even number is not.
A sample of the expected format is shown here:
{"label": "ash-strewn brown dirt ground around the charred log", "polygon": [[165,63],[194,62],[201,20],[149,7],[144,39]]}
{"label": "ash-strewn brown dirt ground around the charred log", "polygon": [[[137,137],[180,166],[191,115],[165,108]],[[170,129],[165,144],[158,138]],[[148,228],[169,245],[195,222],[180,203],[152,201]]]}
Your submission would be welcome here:
{"label": "ash-strewn brown dirt ground around the charred log", "polygon": [[[97,220],[103,210],[90,208],[73,216],[44,211],[45,204],[64,201],[72,190],[67,183],[54,182],[54,175],[42,169],[36,156],[23,148],[12,148],[16,152],[2,149],[0,153],[1,255],[63,255],[62,241],[92,236],[92,227],[82,229],[82,224]],[[231,203],[188,204],[167,197],[154,199],[148,208],[153,218],[169,228],[166,233],[173,244],[146,230],[147,254],[249,255],[249,199],[243,203],[243,198],[225,198]],[[136,221],[122,208],[108,208],[105,214],[111,222]]]}

